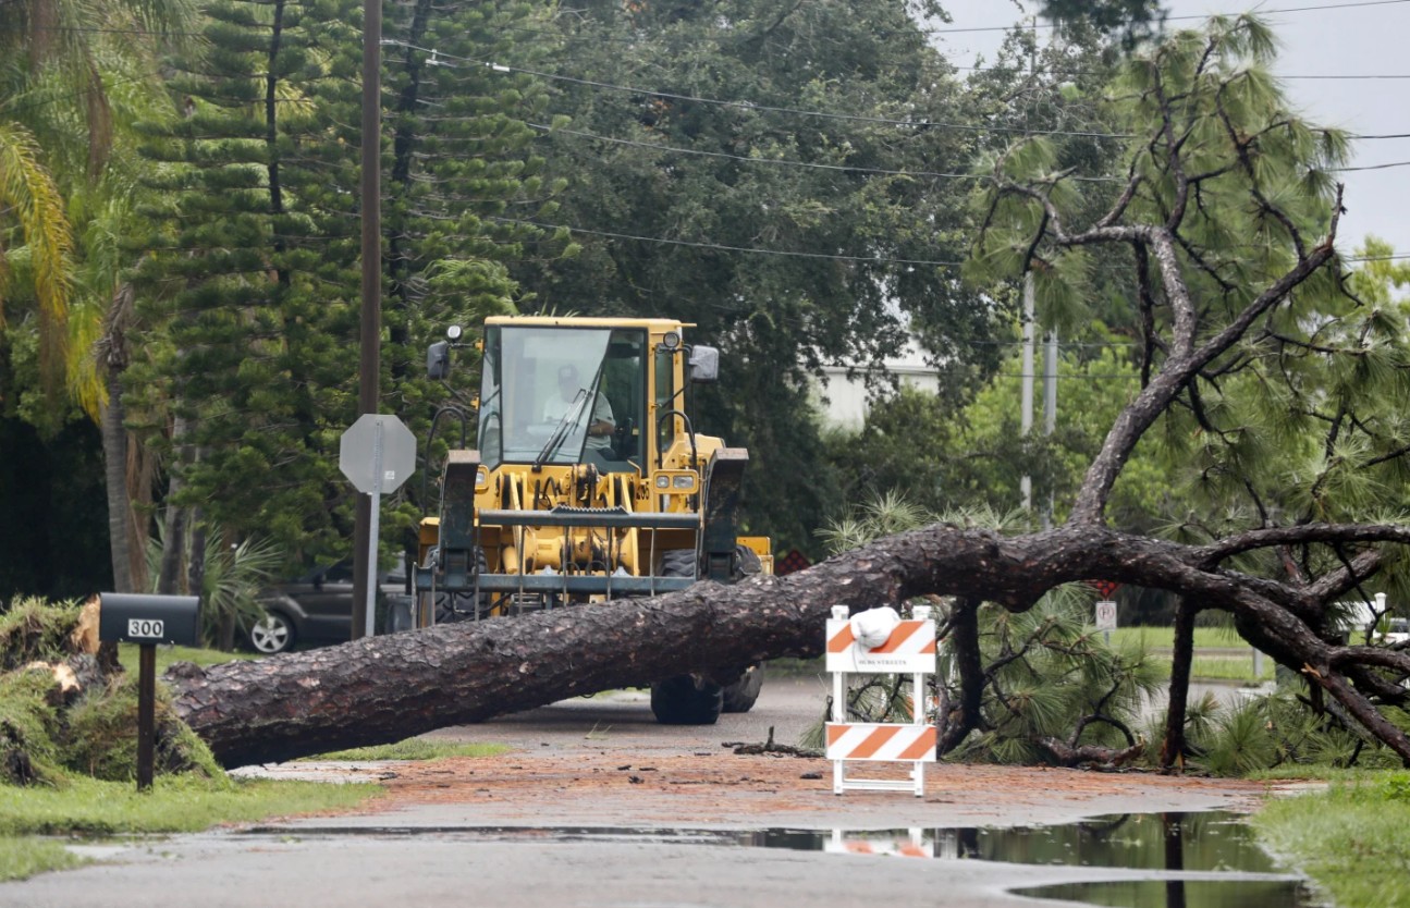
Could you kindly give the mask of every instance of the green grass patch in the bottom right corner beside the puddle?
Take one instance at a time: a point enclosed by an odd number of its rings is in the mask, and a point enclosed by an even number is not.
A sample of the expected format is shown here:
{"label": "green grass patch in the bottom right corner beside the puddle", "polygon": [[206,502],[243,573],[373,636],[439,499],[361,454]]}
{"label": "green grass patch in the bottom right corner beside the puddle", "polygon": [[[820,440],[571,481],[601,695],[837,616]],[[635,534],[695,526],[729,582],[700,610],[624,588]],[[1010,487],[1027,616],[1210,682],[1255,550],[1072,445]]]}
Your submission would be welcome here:
{"label": "green grass patch in the bottom right corner beside the puddle", "polygon": [[1253,816],[1266,845],[1338,905],[1410,908],[1410,773],[1332,781]]}

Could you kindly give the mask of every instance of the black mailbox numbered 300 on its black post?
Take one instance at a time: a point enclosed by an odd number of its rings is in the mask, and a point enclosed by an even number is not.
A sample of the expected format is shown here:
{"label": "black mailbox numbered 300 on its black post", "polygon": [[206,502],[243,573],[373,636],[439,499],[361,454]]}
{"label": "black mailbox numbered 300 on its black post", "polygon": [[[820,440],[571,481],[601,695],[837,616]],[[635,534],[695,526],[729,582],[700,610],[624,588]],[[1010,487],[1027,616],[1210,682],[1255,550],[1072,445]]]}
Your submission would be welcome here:
{"label": "black mailbox numbered 300 on its black post", "polygon": [[99,594],[99,640],[137,643],[137,790],[152,787],[157,726],[157,644],[196,646],[200,637],[197,596],[130,592]]}

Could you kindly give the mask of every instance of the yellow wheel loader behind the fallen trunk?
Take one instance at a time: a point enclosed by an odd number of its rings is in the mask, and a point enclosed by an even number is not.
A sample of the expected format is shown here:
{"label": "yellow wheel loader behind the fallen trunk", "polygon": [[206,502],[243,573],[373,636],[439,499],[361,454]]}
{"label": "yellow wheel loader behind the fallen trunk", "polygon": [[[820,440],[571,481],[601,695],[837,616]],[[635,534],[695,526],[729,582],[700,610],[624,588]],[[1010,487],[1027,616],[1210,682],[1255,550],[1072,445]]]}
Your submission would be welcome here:
{"label": "yellow wheel loader behind the fallen trunk", "polygon": [[[440,515],[420,526],[419,625],[773,572],[768,540],[737,536],[747,451],[695,431],[687,392],[716,381],[719,352],[687,344],[689,327],[485,321],[478,446],[447,454]],[[458,329],[448,336],[427,351],[431,378],[448,374]],[[757,665],[660,678],[651,711],[664,723],[709,725],[722,709],[753,706],[761,680]]]}

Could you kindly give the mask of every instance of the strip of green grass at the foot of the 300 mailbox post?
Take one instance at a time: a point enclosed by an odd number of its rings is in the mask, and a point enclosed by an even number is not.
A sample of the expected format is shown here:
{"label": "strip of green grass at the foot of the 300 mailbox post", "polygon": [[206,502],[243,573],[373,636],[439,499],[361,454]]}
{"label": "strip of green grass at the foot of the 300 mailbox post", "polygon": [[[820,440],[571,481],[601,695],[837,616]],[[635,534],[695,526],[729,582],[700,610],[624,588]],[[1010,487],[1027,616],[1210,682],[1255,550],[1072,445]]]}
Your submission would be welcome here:
{"label": "strip of green grass at the foot of the 300 mailbox post", "polygon": [[196,832],[219,823],[347,809],[376,785],[210,781],[159,777],[147,794],[131,783],[75,778],[62,787],[0,785],[0,836]]}

